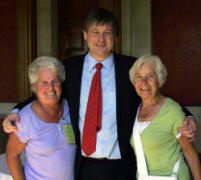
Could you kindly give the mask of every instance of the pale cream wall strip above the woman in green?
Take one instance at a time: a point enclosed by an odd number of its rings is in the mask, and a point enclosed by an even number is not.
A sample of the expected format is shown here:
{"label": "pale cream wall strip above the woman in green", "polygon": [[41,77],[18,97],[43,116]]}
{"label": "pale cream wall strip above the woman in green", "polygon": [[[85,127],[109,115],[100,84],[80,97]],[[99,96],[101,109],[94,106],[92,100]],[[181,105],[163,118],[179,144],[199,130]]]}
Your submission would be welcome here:
{"label": "pale cream wall strip above the woman in green", "polygon": [[152,52],[151,0],[122,0],[122,53],[139,57]]}

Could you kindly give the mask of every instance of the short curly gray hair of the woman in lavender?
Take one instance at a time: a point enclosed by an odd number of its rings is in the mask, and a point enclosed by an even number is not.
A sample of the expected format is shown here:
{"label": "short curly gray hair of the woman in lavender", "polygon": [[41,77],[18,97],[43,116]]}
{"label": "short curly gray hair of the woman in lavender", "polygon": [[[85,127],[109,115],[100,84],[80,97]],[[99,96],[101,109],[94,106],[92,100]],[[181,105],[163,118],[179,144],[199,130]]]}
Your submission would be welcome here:
{"label": "short curly gray hair of the woman in lavender", "polygon": [[35,92],[34,84],[38,80],[38,70],[40,68],[50,68],[58,73],[58,77],[61,82],[65,80],[65,68],[61,61],[50,56],[38,57],[28,67],[29,82],[33,92]]}

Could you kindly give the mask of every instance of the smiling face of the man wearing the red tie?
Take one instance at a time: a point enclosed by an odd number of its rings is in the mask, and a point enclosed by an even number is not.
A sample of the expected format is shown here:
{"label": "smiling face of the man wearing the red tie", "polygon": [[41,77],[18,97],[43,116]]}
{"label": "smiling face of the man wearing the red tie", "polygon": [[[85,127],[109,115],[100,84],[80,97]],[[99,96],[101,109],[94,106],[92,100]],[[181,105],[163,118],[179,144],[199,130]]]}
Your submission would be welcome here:
{"label": "smiling face of the man wearing the red tie", "polygon": [[104,61],[111,53],[114,46],[115,34],[111,24],[92,24],[84,31],[89,53],[98,61]]}

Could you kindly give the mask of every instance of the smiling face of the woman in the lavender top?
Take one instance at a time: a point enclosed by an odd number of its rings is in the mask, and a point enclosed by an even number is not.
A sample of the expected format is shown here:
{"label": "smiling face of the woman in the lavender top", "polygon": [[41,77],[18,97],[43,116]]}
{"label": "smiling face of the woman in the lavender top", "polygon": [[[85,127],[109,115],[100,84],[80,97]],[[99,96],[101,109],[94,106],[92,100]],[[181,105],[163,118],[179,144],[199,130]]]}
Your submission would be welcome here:
{"label": "smiling face of the woman in the lavender top", "polygon": [[61,82],[53,69],[40,68],[34,88],[41,104],[56,105],[59,102]]}

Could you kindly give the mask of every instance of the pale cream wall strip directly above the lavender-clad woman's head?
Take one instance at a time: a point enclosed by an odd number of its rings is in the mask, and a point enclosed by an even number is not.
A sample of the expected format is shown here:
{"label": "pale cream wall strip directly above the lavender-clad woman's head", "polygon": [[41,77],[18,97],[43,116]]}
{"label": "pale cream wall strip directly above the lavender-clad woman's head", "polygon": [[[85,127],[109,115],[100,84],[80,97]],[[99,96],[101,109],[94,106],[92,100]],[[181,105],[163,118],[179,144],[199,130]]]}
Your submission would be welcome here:
{"label": "pale cream wall strip directly above the lavender-clad woman's head", "polygon": [[57,57],[57,0],[37,0],[37,55]]}

